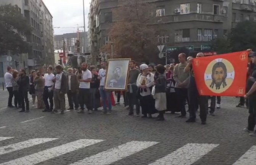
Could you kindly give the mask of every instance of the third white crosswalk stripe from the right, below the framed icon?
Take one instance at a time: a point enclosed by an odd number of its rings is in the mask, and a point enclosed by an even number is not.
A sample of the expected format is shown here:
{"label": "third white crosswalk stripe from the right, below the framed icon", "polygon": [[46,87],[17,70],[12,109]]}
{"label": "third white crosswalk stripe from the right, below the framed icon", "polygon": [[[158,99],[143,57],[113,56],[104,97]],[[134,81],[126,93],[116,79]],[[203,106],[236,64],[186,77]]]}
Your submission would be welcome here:
{"label": "third white crosswalk stripe from the right, below the framed icon", "polygon": [[158,142],[152,141],[131,141],[107,151],[100,152],[99,154],[92,155],[91,157],[87,157],[71,165],[108,165],[157,143]]}

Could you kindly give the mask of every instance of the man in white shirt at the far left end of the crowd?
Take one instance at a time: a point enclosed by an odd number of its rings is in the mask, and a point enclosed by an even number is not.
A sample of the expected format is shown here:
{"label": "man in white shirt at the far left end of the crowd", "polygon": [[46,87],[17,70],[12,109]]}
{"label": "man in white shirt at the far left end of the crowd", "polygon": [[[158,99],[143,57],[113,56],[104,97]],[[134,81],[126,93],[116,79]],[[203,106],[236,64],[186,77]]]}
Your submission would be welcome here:
{"label": "man in white shirt at the far left end of the crowd", "polygon": [[10,107],[10,108],[14,107],[12,105],[12,100],[13,100],[13,85],[11,83],[11,79],[13,78],[13,75],[11,74],[12,71],[13,71],[13,69],[10,66],[8,66],[7,72],[4,75],[5,87],[7,88],[8,92],[9,92],[8,107]]}

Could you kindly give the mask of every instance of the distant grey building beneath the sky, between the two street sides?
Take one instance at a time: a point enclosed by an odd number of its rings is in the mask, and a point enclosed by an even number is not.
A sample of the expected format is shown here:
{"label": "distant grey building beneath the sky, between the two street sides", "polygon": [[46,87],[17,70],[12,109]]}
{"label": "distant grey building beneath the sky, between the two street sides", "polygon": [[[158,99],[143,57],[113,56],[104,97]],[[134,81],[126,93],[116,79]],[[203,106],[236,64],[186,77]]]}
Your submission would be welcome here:
{"label": "distant grey building beneath the sky, between the two street sides", "polygon": [[86,36],[84,36],[84,32],[55,35],[54,36],[54,49],[55,50],[63,49],[63,38],[64,38],[66,46],[68,47],[68,50],[75,53],[76,52],[75,43],[76,43],[76,40],[79,38],[81,53],[89,53],[90,46],[89,46],[88,32],[86,32],[85,35]]}

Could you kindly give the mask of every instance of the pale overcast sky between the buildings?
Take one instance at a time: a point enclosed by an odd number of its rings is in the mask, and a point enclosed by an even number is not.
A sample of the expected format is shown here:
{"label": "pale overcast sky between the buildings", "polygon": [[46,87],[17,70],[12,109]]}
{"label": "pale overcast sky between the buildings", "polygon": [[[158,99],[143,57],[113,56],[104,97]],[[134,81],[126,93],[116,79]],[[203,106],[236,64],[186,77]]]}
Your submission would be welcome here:
{"label": "pale overcast sky between the buildings", "polygon": [[[50,13],[53,16],[54,34],[73,33],[77,28],[62,28],[62,27],[77,27],[84,26],[83,18],[83,0],[43,0]],[[91,0],[84,0],[86,13],[85,27],[88,27],[88,12],[89,3]],[[84,30],[79,28],[79,30]]]}

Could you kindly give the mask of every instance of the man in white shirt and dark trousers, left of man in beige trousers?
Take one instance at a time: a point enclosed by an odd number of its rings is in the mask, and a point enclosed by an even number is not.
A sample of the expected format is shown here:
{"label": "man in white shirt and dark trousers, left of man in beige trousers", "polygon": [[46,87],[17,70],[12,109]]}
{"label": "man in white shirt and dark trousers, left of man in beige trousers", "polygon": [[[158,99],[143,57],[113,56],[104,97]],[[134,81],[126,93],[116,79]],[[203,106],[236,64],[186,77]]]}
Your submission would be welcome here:
{"label": "man in white shirt and dark trousers, left of man in beige trousers", "polygon": [[[54,79],[54,74],[52,74],[53,68],[49,66],[47,68],[47,74],[44,75],[44,80],[45,80],[45,86],[44,86],[44,104],[45,104],[45,109],[43,112],[52,112],[53,110],[53,79]],[[48,98],[50,101],[50,106],[48,103]]]}

